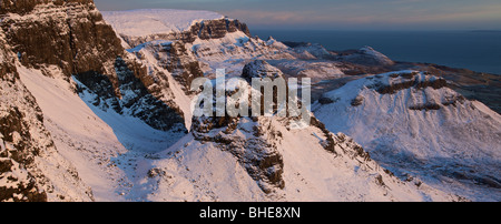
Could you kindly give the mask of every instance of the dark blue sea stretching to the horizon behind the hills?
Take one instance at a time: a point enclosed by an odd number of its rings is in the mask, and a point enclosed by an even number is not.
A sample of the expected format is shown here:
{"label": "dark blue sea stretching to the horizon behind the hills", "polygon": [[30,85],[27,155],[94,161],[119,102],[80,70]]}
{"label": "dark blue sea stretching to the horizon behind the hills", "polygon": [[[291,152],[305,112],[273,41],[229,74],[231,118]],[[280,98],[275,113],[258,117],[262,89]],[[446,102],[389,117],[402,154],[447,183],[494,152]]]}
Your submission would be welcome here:
{"label": "dark blue sea stretching to the horizon behind the hills", "polygon": [[321,43],[333,51],[370,45],[394,61],[501,74],[501,31],[253,30],[252,34],[263,40]]}

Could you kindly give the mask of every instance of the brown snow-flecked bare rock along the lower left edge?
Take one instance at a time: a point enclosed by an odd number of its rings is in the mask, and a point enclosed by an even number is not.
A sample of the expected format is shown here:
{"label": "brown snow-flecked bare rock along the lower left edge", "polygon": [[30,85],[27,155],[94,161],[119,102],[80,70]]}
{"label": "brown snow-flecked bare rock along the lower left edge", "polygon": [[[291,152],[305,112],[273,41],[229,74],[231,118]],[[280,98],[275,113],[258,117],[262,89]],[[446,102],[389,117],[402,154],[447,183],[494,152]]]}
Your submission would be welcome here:
{"label": "brown snow-flecked bare rock along the lower left edge", "polygon": [[[33,167],[35,156],[39,155],[41,150],[53,147],[53,143],[48,141],[48,144],[39,145],[32,138],[30,129],[38,129],[37,131],[42,132],[48,139],[50,136],[42,128],[43,116],[33,96],[26,89],[14,90],[14,86],[20,84],[16,83],[19,82],[16,69],[3,63],[0,74],[2,82],[0,88],[2,95],[0,108],[0,202],[47,201],[47,192],[38,183],[40,176],[37,176],[38,172]],[[12,94],[19,94],[21,101],[9,102],[7,98],[13,98]],[[32,106],[31,115],[27,111],[29,110],[27,106]]]}

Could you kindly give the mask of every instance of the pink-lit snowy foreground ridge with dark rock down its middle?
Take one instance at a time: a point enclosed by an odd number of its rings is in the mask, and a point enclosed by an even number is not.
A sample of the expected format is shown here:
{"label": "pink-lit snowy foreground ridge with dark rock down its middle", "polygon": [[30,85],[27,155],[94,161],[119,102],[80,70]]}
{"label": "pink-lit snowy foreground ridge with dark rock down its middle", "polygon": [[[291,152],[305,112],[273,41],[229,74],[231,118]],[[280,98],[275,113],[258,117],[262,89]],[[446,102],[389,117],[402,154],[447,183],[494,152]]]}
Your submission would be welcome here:
{"label": "pink-lit snowy foreground ridge with dark rock down its middle", "polygon": [[[173,147],[155,154],[157,160],[141,163],[138,176],[143,177],[136,185],[149,191],[138,194],[139,200],[460,200],[418,179],[400,181],[364,153],[358,154],[356,143],[343,134],[333,135],[336,145],[333,153],[325,150],[326,139],[318,128],[287,130],[285,124],[286,121],[279,119],[261,118],[257,122],[242,119],[233,132],[223,126],[205,134],[187,135]],[[262,135],[256,135],[256,130],[261,130]],[[200,136],[206,141],[200,141]],[[228,141],[233,143],[226,145]],[[259,157],[259,152],[272,154]],[[278,162],[266,159],[272,155],[278,155]],[[252,161],[263,159],[262,165],[275,162],[261,171]],[[278,173],[266,174],[269,171]],[[268,175],[278,176],[279,181],[271,182]]]}

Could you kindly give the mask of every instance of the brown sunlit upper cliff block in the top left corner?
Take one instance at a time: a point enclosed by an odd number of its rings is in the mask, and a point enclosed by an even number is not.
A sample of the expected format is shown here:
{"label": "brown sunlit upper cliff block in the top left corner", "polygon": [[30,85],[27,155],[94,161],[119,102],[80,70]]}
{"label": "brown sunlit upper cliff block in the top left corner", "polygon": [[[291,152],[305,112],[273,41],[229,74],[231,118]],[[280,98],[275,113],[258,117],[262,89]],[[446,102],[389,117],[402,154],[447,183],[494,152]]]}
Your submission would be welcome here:
{"label": "brown sunlit upper cliff block in the top left corner", "polygon": [[24,65],[58,65],[67,77],[112,73],[116,57],[124,53],[91,0],[8,0],[2,4],[1,29]]}

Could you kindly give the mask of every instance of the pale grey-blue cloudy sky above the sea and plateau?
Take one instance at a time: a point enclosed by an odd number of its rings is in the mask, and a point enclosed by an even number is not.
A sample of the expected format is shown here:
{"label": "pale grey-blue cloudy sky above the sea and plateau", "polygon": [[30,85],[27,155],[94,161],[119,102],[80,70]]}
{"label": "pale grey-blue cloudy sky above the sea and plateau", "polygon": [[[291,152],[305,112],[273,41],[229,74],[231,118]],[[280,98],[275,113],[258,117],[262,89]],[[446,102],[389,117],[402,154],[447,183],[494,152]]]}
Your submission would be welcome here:
{"label": "pale grey-blue cloudy sky above the sea and plateau", "polygon": [[501,30],[501,0],[95,0],[101,11],[216,11],[250,29]]}

